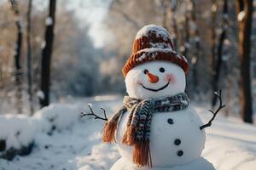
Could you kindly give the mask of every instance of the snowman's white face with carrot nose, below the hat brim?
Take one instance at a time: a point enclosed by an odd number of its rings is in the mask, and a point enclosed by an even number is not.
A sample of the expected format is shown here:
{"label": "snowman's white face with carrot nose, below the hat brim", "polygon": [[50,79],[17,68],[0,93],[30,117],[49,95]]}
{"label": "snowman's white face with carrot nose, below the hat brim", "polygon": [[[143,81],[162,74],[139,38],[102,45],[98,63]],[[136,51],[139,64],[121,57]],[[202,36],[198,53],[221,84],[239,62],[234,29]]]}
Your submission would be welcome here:
{"label": "snowman's white face with carrot nose, below the hat brim", "polygon": [[126,91],[132,98],[148,99],[183,93],[183,69],[168,61],[151,61],[132,68],[125,77]]}

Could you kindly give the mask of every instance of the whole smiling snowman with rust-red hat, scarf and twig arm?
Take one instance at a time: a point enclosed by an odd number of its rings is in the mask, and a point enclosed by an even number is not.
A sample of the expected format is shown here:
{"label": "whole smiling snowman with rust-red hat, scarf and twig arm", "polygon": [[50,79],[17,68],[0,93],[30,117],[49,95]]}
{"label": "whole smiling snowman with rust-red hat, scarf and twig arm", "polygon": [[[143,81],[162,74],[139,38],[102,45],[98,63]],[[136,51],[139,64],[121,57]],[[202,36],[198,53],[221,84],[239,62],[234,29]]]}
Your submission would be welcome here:
{"label": "whole smiling snowman with rust-red hat, scarf and twig arm", "polygon": [[[189,105],[184,93],[188,71],[187,59],[175,52],[165,28],[149,25],[137,32],[123,67],[129,95],[102,134],[103,142],[115,142],[121,155],[111,170],[215,169],[201,157],[204,128],[213,119],[204,124]],[[217,112],[212,111],[214,117]]]}

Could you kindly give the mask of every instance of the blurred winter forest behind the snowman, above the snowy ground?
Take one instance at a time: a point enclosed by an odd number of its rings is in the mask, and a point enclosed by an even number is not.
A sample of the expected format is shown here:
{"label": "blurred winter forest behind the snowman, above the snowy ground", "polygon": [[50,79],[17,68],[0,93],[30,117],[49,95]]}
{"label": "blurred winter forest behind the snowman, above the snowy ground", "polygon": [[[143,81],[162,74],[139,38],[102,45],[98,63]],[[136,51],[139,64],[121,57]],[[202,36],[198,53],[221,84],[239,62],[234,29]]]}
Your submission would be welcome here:
{"label": "blurred winter forest behind the snowman, above the snowy ground", "polygon": [[[55,22],[48,16],[52,0],[11,2],[15,1],[0,0],[1,112],[13,111],[10,105],[19,113],[38,109],[39,99],[47,99],[41,84],[46,77],[41,73],[46,73],[47,66],[49,102],[67,96],[125,94],[121,69],[131,54],[134,37],[141,27],[155,24],[171,32],[177,52],[189,60],[186,91],[192,101],[207,102],[214,107],[213,91],[221,88],[227,105],[225,115],[241,115],[245,122],[253,122],[256,111],[253,0],[61,0],[56,1]],[[76,5],[71,8],[73,4]],[[97,29],[93,20],[98,20],[98,16],[91,8],[105,11]],[[53,23],[53,51],[50,65],[45,67],[42,57],[48,41],[44,32]],[[95,33],[92,35],[91,31]],[[23,34],[19,67],[15,65],[18,54],[15,32]],[[96,42],[102,45],[96,46]]]}

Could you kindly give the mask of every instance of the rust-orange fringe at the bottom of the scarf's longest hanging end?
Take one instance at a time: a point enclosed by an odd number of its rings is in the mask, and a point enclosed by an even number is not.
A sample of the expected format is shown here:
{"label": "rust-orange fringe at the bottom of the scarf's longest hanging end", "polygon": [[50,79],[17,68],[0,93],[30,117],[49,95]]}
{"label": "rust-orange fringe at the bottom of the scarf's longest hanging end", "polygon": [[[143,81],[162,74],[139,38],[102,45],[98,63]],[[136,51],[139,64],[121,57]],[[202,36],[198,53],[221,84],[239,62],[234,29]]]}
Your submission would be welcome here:
{"label": "rust-orange fringe at the bottom of the scarf's longest hanging end", "polygon": [[152,167],[149,141],[137,142],[133,146],[133,160],[138,167]]}

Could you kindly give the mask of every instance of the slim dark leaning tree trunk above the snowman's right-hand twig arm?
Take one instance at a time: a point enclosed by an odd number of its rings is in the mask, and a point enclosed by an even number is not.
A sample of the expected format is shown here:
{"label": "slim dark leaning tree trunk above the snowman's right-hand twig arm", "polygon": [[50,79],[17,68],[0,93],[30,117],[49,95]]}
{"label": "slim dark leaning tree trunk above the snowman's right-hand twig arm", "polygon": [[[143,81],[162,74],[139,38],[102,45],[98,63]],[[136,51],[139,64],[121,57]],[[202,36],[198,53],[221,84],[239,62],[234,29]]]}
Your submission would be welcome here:
{"label": "slim dark leaning tree trunk above the snowman's right-hand twig arm", "polygon": [[[218,37],[218,48],[217,48],[217,59],[215,59],[215,68],[214,72],[215,74],[213,75],[213,83],[212,83],[212,89],[214,91],[218,90],[219,86],[219,76],[220,76],[220,70],[221,70],[221,65],[223,61],[223,47],[224,47],[224,40],[226,38],[226,32],[227,32],[227,27],[228,27],[228,0],[224,0],[223,4],[223,21],[222,21],[222,26],[221,26],[221,32]],[[217,102],[217,96],[212,94],[212,107],[216,105]]]}

